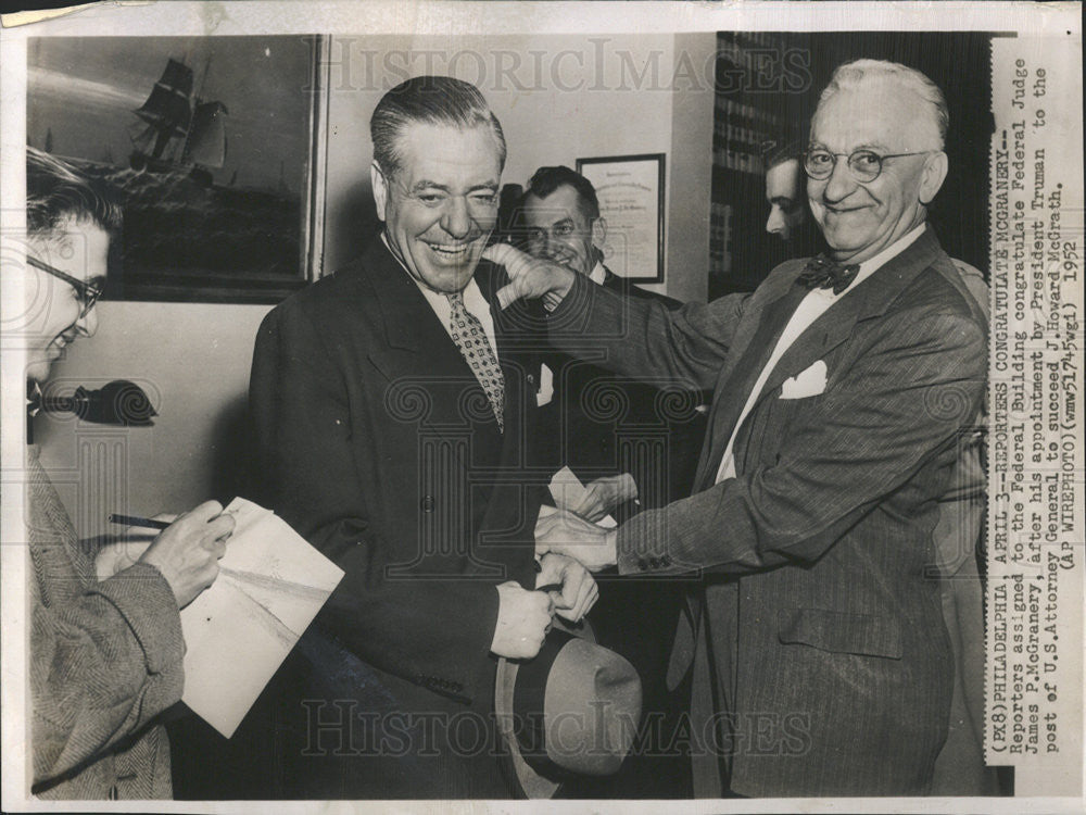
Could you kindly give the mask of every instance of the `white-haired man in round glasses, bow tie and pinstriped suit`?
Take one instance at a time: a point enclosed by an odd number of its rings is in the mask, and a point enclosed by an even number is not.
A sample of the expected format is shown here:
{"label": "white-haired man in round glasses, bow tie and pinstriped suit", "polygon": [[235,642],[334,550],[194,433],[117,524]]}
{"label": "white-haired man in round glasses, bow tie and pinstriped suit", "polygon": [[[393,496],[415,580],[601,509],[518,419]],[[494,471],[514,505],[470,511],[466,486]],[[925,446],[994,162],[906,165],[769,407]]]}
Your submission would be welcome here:
{"label": "white-haired man in round glasses, bow tie and pinstriped suit", "polygon": [[981,405],[986,325],[925,224],[946,177],[939,89],[896,63],[838,67],[805,154],[831,256],[749,296],[620,303],[495,247],[503,302],[554,292],[552,342],[621,336],[628,374],[714,388],[694,493],[617,531],[571,514],[541,550],[622,574],[699,572],[671,668],[693,670],[698,795],[924,794],[952,660],[933,529]]}

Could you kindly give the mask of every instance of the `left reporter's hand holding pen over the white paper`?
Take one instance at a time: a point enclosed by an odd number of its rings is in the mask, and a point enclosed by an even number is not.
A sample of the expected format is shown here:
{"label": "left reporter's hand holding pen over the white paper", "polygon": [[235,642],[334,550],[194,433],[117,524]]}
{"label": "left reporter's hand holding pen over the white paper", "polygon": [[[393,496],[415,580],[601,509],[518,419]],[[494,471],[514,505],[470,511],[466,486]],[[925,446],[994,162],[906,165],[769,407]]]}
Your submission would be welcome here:
{"label": "left reporter's hand holding pen over the white paper", "polygon": [[233,516],[224,515],[218,501],[205,501],[163,529],[139,560],[162,573],[184,609],[215,582],[232,531]]}

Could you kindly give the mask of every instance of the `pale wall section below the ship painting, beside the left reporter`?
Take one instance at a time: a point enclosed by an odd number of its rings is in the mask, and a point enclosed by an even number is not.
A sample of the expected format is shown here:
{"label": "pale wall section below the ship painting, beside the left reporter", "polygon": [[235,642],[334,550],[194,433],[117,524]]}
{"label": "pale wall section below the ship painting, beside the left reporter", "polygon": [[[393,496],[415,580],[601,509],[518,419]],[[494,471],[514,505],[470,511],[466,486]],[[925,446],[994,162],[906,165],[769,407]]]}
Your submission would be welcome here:
{"label": "pale wall section below the ship painting, beside the left reporter", "polygon": [[[36,419],[42,463],[81,535],[103,534],[111,512],[181,512],[233,497],[253,338],[270,308],[98,305],[98,333],[67,349],[49,388],[70,394],[78,385],[129,379],[159,415],[152,427],[129,428]],[[99,489],[86,489],[88,474]]]}

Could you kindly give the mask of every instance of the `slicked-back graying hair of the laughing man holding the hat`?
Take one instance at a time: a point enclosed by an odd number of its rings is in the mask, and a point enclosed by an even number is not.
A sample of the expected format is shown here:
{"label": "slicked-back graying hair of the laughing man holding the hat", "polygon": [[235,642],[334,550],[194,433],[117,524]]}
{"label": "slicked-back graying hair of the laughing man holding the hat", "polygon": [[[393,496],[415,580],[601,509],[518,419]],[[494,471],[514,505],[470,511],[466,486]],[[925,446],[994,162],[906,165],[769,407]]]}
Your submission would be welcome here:
{"label": "slicked-back graying hair of the laughing man holding the hat", "polygon": [[502,124],[475,85],[451,76],[416,76],[381,97],[369,120],[369,135],[374,160],[382,173],[393,174],[401,168],[400,137],[415,123],[460,129],[490,127],[497,141],[498,167],[505,168]]}

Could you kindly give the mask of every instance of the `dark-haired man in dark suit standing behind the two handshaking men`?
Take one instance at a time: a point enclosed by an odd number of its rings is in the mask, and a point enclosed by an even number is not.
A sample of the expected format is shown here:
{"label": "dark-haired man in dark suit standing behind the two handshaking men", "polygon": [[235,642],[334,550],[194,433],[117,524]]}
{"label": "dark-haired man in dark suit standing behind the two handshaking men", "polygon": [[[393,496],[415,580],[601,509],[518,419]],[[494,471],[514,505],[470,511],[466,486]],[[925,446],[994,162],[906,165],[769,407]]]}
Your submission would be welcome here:
{"label": "dark-haired man in dark suit standing behind the two handshaking men", "polygon": [[[540,167],[519,201],[528,251],[565,265],[620,297],[681,302],[632,285],[603,262],[607,223],[592,183],[566,166]],[[603,361],[606,349],[598,349]],[[705,435],[700,401],[677,384],[616,376],[593,362],[554,352],[543,359],[541,396],[545,446],[541,459],[568,465],[588,485],[578,514],[592,521],[616,507],[620,521],[640,507],[664,506],[689,496]],[[641,675],[646,723],[656,727],[670,704],[665,673],[679,616],[683,584],[597,578],[601,597],[592,612],[596,639],[618,651]],[[646,724],[643,738],[651,738]],[[683,767],[661,767],[660,744],[644,743],[618,776],[584,782],[578,794],[661,798],[683,792]],[[652,754],[652,755],[649,755]],[[646,772],[655,769],[655,772]],[[662,770],[662,772],[661,772]]]}

